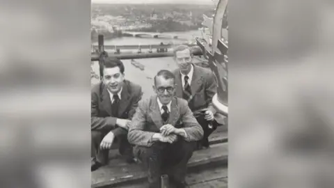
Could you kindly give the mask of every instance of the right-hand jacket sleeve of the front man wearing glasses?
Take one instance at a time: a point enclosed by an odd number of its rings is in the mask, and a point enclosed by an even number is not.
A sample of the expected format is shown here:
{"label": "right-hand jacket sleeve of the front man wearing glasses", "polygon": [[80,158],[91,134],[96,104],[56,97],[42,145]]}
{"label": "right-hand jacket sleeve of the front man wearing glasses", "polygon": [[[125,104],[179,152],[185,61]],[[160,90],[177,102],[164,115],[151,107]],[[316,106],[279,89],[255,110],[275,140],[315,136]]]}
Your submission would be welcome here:
{"label": "right-hand jacket sleeve of the front man wearing glasses", "polygon": [[202,139],[204,132],[196,118],[193,116],[193,112],[189,109],[188,105],[185,104],[180,106],[182,112],[182,122],[184,125],[184,131],[186,132],[186,141],[199,141]]}

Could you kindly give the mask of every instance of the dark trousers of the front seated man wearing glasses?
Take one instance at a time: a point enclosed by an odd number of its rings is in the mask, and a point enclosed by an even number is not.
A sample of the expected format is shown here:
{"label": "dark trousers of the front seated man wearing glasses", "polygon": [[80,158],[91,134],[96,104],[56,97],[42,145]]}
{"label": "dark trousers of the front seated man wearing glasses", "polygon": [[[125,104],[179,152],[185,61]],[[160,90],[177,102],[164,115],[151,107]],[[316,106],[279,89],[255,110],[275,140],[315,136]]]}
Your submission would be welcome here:
{"label": "dark trousers of the front seated man wearing glasses", "polygon": [[167,173],[170,182],[177,188],[184,187],[186,164],[188,163],[196,142],[184,141],[181,137],[175,143],[154,143],[150,148],[136,146],[135,155],[148,169],[150,188],[160,187],[160,176]]}

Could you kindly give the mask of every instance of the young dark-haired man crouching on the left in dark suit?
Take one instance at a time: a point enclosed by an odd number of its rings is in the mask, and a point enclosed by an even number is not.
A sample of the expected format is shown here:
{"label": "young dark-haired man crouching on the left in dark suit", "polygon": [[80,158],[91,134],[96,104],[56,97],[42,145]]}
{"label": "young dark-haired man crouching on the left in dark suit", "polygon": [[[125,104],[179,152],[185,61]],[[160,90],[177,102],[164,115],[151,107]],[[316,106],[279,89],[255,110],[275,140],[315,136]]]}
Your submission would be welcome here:
{"label": "young dark-haired man crouching on the left in dark suit", "polygon": [[108,162],[108,154],[114,139],[119,152],[127,162],[132,162],[132,146],[127,141],[127,125],[138,101],[141,86],[124,79],[124,65],[117,58],[106,58],[100,67],[102,82],[93,86],[91,106],[91,171]]}

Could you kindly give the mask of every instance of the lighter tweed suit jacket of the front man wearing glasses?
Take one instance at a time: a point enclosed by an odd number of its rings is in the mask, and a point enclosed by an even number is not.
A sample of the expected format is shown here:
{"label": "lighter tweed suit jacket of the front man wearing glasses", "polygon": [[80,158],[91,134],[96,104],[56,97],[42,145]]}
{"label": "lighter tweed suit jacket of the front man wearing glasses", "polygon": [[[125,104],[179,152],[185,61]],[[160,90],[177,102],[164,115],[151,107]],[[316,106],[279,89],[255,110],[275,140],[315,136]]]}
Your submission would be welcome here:
{"label": "lighter tweed suit jacket of the front man wearing glasses", "polygon": [[[170,104],[170,115],[166,124],[177,128],[184,128],[186,141],[199,141],[202,139],[203,130],[188,107],[186,100],[173,97]],[[127,139],[129,143],[137,146],[152,146],[151,140],[154,133],[160,132],[163,126],[157,95],[139,102],[134,118],[129,126]]]}

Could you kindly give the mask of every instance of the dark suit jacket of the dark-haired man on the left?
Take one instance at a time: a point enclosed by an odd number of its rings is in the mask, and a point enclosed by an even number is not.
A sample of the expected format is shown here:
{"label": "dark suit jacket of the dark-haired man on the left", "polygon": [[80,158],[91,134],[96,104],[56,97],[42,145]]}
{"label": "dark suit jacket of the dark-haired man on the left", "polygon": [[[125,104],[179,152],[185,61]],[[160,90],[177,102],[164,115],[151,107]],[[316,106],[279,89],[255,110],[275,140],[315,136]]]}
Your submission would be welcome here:
{"label": "dark suit jacket of the dark-haired man on the left", "polygon": [[115,136],[127,134],[127,130],[116,126],[116,119],[132,119],[143,95],[141,86],[124,81],[120,94],[118,116],[112,116],[111,99],[106,86],[100,82],[92,88],[91,130],[102,132],[112,131]]}

